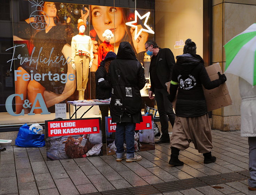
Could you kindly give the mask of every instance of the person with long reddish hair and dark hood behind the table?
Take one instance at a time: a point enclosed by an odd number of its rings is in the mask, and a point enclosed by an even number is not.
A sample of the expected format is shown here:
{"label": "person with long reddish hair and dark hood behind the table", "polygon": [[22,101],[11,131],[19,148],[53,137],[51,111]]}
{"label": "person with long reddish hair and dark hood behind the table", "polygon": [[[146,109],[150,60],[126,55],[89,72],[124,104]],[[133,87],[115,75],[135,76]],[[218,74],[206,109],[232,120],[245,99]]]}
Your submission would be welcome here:
{"label": "person with long reddish hair and dark hood behind the table", "polygon": [[[109,99],[111,94],[111,83],[109,65],[117,55],[109,51],[95,72],[96,99]],[[101,111],[102,142],[106,143],[105,117],[109,116],[109,106],[99,105]]]}

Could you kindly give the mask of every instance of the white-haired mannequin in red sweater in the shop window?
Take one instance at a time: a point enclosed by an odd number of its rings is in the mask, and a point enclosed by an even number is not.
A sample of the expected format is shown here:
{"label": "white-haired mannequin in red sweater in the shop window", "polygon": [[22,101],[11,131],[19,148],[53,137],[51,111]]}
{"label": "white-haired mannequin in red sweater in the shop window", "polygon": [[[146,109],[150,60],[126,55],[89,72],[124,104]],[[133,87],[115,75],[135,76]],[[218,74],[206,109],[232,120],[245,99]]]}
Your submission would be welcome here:
{"label": "white-haired mannequin in red sweater in the shop window", "polygon": [[109,51],[114,52],[114,47],[109,43],[110,40],[114,37],[114,34],[112,33],[112,31],[109,29],[105,30],[104,33],[102,34],[102,37],[105,39],[105,41],[99,45],[98,67],[100,66],[101,61],[105,59],[107,52]]}

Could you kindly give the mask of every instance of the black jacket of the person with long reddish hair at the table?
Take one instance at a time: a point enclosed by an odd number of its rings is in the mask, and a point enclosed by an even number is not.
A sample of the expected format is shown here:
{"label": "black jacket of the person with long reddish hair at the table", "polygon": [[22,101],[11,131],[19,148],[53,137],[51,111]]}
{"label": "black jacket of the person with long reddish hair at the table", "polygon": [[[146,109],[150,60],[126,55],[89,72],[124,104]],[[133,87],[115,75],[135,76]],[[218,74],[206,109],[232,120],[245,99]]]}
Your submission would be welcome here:
{"label": "black jacket of the person with long reddish hair at the table", "polygon": [[95,72],[96,99],[109,99],[111,93],[110,75],[105,70],[104,60]]}

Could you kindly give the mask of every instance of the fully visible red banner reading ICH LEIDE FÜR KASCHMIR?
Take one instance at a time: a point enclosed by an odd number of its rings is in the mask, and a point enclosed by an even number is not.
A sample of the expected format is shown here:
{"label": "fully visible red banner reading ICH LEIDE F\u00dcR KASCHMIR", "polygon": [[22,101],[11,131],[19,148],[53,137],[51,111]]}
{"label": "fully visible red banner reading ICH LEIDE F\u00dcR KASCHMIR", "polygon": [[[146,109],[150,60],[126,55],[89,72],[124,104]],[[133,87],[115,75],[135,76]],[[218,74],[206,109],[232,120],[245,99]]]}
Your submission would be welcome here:
{"label": "fully visible red banner reading ICH LEIDE F\u00dcR KASCHMIR", "polygon": [[99,119],[46,121],[48,137],[99,133]]}

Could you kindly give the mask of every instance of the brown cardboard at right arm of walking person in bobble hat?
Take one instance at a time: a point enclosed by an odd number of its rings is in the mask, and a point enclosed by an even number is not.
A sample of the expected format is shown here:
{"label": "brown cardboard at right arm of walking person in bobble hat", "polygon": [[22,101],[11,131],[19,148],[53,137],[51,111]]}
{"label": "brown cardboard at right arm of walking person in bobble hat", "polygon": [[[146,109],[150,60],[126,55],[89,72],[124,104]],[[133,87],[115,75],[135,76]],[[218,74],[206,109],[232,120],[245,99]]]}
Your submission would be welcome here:
{"label": "brown cardboard at right arm of walking person in bobble hat", "polygon": [[[207,66],[206,71],[211,81],[219,78],[218,72],[222,74],[219,63]],[[215,109],[233,104],[226,83],[223,83],[219,87],[210,90],[203,88],[203,92],[205,94],[208,111],[213,111]]]}

